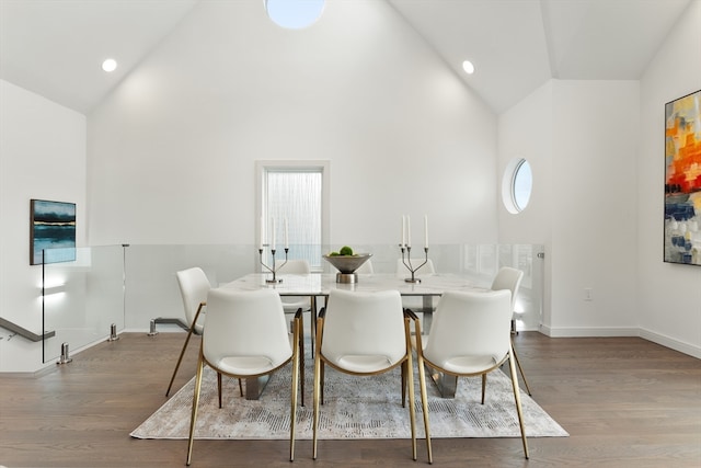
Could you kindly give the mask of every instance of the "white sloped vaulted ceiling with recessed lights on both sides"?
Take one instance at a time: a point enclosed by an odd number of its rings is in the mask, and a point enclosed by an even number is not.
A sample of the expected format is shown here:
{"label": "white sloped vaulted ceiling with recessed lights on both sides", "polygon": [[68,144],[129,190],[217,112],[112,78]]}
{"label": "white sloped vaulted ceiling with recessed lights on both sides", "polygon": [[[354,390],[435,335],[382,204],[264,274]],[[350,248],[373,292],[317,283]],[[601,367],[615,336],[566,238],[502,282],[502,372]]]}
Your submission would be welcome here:
{"label": "white sloped vaulted ceiling with recessed lights on both sides", "polygon": [[[0,0],[0,78],[89,113],[200,1]],[[639,79],[692,0],[361,1],[388,1],[498,114],[550,78]]]}

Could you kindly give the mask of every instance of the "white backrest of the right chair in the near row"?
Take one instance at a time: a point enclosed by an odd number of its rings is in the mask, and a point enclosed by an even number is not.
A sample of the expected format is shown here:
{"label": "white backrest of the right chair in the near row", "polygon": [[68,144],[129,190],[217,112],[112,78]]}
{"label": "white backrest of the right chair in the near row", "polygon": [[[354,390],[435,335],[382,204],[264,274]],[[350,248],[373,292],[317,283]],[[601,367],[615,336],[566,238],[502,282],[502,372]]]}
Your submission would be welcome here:
{"label": "white backrest of the right chair in the near row", "polygon": [[446,370],[451,362],[463,364],[467,356],[501,362],[510,346],[510,306],[512,293],[504,289],[444,293],[425,340],[424,357]]}

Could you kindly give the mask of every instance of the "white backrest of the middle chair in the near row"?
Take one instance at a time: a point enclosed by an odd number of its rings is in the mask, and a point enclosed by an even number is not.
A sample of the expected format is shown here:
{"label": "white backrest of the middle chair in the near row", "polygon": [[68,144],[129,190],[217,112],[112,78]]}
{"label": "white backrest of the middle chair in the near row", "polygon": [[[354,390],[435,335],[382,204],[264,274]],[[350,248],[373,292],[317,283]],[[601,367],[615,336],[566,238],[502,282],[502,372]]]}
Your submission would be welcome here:
{"label": "white backrest of the middle chair in the near row", "polygon": [[397,290],[332,289],[326,304],[322,354],[344,368],[344,356],[386,356],[387,367],[406,355],[402,297]]}

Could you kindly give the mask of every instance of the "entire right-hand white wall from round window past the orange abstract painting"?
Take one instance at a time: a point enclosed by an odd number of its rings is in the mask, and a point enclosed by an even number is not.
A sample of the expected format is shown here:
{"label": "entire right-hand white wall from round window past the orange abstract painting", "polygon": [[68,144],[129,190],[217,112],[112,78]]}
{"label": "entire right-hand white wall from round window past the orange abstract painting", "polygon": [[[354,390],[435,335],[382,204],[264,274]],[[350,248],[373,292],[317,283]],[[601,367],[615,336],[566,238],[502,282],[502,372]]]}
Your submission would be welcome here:
{"label": "entire right-hand white wall from round window past the orange abstract painting", "polygon": [[[701,88],[701,0],[640,82],[551,80],[499,116],[498,168],[533,195],[501,242],[543,242],[543,332],[640,334],[701,357],[701,269],[663,262],[664,105]],[[584,288],[594,300],[584,300]]]}

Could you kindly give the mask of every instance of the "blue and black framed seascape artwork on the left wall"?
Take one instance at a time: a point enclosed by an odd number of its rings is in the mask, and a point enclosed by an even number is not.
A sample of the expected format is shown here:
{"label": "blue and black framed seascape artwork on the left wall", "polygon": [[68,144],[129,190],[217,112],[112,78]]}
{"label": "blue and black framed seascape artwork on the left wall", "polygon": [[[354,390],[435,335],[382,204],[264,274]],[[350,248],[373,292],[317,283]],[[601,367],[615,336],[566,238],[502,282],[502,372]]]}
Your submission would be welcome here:
{"label": "blue and black framed seascape artwork on the left wall", "polygon": [[30,214],[30,264],[74,261],[76,204],[32,199]]}

